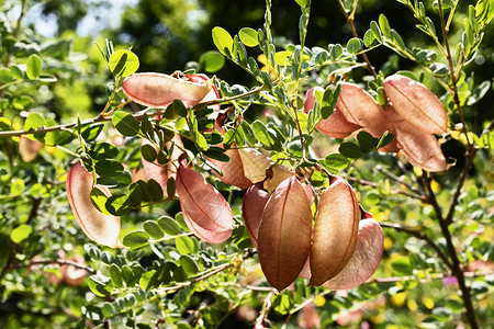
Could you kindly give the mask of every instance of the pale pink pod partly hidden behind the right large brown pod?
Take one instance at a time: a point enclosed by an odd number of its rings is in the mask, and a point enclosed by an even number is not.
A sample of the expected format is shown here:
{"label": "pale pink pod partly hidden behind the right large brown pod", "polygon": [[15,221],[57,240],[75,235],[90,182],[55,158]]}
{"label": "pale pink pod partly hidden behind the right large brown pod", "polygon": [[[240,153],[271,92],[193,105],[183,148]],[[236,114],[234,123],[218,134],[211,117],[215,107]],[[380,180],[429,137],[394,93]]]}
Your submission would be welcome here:
{"label": "pale pink pod partly hidden behind the right large brown pod", "polygon": [[366,283],[374,274],[382,259],[383,234],[371,214],[363,212],[359,222],[357,246],[350,261],[323,286],[330,290],[349,290]]}

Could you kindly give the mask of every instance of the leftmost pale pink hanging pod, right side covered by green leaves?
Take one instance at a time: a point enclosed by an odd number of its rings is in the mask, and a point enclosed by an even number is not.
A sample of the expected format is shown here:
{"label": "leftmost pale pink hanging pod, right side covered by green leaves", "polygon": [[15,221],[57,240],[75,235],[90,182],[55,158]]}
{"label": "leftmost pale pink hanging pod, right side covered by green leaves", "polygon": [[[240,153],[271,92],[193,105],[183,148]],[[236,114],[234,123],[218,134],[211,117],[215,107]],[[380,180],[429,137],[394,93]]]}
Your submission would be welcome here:
{"label": "leftmost pale pink hanging pod, right side covered by green leaves", "polygon": [[[91,240],[111,248],[120,248],[120,218],[100,213],[91,202],[93,178],[81,162],[76,162],[67,173],[67,197],[74,216]],[[102,189],[103,192],[108,190]]]}

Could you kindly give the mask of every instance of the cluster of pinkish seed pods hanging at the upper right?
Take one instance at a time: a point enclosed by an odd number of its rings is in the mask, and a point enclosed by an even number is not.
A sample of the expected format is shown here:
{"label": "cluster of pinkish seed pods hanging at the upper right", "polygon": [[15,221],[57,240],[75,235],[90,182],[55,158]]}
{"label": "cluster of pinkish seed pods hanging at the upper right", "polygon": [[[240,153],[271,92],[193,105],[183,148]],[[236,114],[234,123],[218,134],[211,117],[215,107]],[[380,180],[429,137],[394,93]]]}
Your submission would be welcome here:
{"label": "cluster of pinkish seed pods hanging at the upper right", "polygon": [[[305,95],[304,110],[315,102],[316,87]],[[335,111],[318,123],[317,129],[334,138],[356,136],[366,131],[380,138],[384,132],[395,135],[394,140],[380,151],[401,151],[408,161],[428,171],[445,171],[446,158],[434,134],[447,132],[448,118],[439,99],[420,82],[393,75],[384,80],[389,102],[378,102],[357,84],[343,82]]]}

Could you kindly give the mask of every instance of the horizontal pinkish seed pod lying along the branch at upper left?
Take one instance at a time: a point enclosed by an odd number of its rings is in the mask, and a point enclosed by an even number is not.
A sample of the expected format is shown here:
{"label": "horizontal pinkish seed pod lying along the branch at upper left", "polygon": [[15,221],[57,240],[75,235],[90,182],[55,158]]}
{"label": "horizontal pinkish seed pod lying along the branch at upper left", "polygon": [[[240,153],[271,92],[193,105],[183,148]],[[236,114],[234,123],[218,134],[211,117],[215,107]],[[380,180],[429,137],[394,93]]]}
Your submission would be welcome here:
{"label": "horizontal pinkish seed pod lying along the branch at upper left", "polygon": [[134,102],[156,109],[167,107],[175,100],[193,106],[213,88],[213,80],[192,82],[164,73],[135,73],[122,83],[123,92]]}

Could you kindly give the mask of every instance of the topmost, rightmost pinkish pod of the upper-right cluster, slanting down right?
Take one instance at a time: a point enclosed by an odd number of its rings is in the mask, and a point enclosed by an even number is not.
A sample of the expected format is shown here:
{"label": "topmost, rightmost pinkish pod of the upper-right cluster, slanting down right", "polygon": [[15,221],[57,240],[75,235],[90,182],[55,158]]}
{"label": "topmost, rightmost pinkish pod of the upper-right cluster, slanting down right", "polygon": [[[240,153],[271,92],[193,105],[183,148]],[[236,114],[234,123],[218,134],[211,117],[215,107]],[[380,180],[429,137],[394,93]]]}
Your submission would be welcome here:
{"label": "topmost, rightmost pinkish pod of the upper-right cluster, slanting down right", "polygon": [[418,81],[393,75],[384,80],[384,90],[396,112],[416,128],[429,134],[448,129],[448,117],[441,101]]}

